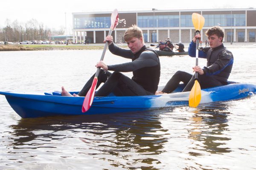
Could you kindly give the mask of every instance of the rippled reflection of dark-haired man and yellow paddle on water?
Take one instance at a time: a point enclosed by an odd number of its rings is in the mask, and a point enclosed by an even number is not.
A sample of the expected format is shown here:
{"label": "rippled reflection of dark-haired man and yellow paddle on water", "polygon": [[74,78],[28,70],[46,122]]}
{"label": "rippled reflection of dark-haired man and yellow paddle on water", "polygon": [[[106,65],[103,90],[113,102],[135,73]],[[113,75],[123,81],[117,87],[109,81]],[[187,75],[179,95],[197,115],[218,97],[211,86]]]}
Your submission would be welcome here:
{"label": "rippled reflection of dark-haired man and yellow paddle on water", "polygon": [[[231,140],[223,134],[228,130],[227,111],[228,106],[218,102],[198,107],[195,114],[191,117],[189,137],[200,142],[194,149],[205,150],[209,153],[227,153],[230,148],[222,147],[226,141]],[[190,153],[193,156],[200,153]]]}

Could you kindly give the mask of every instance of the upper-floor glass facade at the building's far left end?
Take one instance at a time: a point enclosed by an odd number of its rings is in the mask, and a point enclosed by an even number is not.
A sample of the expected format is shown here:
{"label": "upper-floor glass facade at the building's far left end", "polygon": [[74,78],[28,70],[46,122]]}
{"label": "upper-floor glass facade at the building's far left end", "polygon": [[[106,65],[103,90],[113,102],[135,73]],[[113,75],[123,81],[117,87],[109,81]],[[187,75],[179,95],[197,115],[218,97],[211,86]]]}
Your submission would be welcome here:
{"label": "upper-floor glass facade at the building's far left end", "polygon": [[110,17],[74,17],[74,29],[110,28]]}

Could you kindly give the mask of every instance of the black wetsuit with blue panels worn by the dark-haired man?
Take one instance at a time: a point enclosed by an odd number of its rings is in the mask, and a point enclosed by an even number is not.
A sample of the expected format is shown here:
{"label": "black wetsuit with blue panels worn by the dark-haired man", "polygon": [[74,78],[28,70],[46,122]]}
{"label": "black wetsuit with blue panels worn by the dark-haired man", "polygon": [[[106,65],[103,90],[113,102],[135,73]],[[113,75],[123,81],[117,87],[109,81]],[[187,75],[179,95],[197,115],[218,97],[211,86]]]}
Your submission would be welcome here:
{"label": "black wetsuit with blue panels worn by the dark-haired man", "polygon": [[[195,43],[189,44],[189,56],[195,57]],[[210,88],[220,85],[227,85],[227,79],[231,73],[233,66],[233,54],[224,47],[223,44],[216,48],[204,48],[199,51],[198,57],[207,59],[207,67],[203,68],[204,74],[198,74],[198,82],[201,88]],[[171,93],[180,82],[186,87],[183,91],[191,91],[194,85],[195,75],[184,71],[177,71],[173,77],[167,82],[162,92]]]}

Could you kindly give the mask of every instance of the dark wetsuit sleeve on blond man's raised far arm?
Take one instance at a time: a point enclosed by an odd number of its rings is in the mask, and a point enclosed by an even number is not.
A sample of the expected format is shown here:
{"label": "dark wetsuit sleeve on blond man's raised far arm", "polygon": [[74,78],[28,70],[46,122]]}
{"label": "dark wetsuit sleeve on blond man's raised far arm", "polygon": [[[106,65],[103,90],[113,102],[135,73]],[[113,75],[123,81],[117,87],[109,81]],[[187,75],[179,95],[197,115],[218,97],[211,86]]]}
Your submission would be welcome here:
{"label": "dark wetsuit sleeve on blond man's raised far arm", "polygon": [[134,54],[131,52],[130,49],[120,48],[116,46],[114,43],[108,45],[108,49],[112,54],[115,54],[117,56],[121,56],[128,59],[134,58]]}

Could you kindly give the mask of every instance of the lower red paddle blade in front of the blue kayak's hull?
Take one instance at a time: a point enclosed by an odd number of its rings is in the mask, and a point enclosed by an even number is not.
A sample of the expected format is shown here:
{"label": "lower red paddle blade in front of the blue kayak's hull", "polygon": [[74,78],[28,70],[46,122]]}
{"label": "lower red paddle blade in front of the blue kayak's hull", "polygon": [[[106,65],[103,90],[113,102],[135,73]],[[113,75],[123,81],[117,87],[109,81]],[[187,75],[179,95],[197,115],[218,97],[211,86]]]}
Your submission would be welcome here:
{"label": "lower red paddle blade in front of the blue kayak's hull", "polygon": [[93,79],[93,84],[92,84],[90,90],[87,92],[87,94],[84,98],[84,102],[83,102],[83,105],[82,105],[82,112],[83,113],[88,111],[90,109],[92,103],[93,103],[93,98],[94,98],[97,82],[98,82],[98,79],[97,79],[97,77],[95,77]]}

